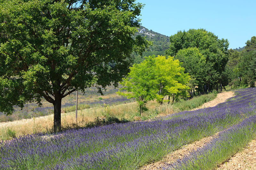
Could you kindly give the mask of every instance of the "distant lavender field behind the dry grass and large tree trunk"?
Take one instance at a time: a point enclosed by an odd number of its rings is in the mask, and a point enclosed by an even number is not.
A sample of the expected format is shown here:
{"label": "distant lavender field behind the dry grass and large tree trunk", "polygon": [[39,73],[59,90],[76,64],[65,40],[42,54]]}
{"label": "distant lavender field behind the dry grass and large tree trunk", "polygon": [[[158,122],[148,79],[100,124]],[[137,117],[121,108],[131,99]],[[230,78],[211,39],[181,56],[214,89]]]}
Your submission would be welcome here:
{"label": "distant lavender field behind the dry grass and large tree trunk", "polygon": [[[112,104],[123,104],[133,101],[132,99],[127,99],[126,97],[117,95],[116,92],[118,88],[114,86],[108,86],[107,91],[103,91],[103,96],[98,93],[96,87],[87,88],[85,93],[78,93],[78,109],[85,109],[90,107],[98,107]],[[14,106],[14,112],[12,115],[5,115],[0,112],[0,122],[14,121],[20,119],[28,119],[32,117],[45,116],[53,114],[53,105],[46,100],[42,100],[42,107],[38,107],[36,103],[27,103],[21,110],[20,107]],[[69,96],[63,98],[62,100],[62,110],[63,112],[71,112],[75,110],[76,106],[76,93],[71,93]]]}

